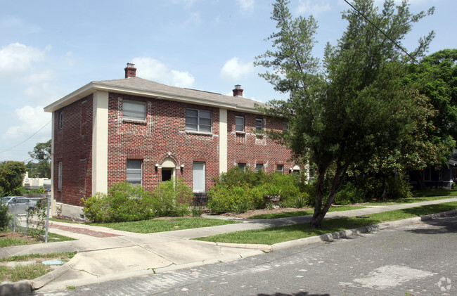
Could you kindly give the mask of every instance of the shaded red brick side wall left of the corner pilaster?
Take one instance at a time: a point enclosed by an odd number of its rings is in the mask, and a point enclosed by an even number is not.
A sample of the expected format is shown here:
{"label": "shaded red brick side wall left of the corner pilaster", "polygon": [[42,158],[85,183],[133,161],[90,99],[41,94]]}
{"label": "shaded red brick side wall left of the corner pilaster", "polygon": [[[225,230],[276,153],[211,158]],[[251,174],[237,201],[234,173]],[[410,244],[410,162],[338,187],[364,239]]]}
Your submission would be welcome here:
{"label": "shaded red brick side wall left of the corner pilaster", "polygon": [[[81,205],[92,191],[93,96],[57,110],[54,116],[54,198],[57,202]],[[59,116],[62,113],[62,128]],[[62,162],[62,190],[58,190],[58,162]]]}

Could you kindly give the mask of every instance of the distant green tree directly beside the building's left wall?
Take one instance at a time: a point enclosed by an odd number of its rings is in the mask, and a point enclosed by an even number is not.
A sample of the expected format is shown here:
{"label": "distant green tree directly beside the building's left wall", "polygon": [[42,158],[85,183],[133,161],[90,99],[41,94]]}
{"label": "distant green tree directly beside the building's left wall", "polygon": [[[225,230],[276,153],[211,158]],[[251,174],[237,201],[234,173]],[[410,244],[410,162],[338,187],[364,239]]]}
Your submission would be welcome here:
{"label": "distant green tree directly beside the building's left wall", "polygon": [[27,163],[29,176],[51,178],[51,140],[45,143],[37,143],[29,155],[37,161]]}

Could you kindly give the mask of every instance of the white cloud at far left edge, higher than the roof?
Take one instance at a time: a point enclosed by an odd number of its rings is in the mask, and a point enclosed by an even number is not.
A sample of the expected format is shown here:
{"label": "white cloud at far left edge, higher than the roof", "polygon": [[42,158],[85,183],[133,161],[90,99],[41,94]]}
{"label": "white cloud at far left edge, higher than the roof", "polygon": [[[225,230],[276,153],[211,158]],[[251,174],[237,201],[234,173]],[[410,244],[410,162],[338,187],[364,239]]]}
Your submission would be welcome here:
{"label": "white cloud at far left edge, higher than the roof", "polygon": [[30,70],[32,64],[44,60],[45,52],[32,46],[12,43],[0,49],[0,73],[18,73]]}

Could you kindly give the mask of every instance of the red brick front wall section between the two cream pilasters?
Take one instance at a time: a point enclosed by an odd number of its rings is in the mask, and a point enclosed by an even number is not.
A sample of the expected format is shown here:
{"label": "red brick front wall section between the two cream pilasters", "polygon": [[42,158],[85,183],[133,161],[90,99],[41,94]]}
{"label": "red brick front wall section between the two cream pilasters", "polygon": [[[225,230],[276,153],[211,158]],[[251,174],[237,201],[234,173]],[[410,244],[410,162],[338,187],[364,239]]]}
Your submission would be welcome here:
{"label": "red brick front wall section between the two cream pilasters", "polygon": [[[122,120],[122,101],[146,101],[146,122]],[[212,135],[186,132],[186,108],[212,111]],[[143,160],[143,186],[153,190],[162,180],[155,164],[171,154],[183,177],[192,188],[194,161],[206,162],[206,188],[214,185],[219,174],[219,108],[142,98],[122,94],[109,95],[108,115],[108,188],[127,179],[127,159]]]}

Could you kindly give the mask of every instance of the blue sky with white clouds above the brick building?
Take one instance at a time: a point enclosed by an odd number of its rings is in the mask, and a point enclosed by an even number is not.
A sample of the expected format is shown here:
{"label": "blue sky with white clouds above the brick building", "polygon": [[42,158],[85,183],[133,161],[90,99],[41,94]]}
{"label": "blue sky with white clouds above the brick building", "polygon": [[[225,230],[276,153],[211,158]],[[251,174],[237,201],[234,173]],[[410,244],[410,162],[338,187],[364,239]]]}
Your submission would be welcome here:
{"label": "blue sky with white clouds above the brick building", "polygon": [[[380,4],[382,1],[375,1]],[[36,143],[51,139],[43,111],[75,89],[97,80],[124,78],[126,63],[156,82],[246,98],[281,98],[258,77],[252,62],[271,44],[273,0],[2,0],[0,11],[0,161],[25,161]],[[412,0],[418,13],[435,6],[404,41],[413,51],[430,30],[430,53],[457,48],[455,0]],[[336,44],[347,23],[342,0],[292,0],[294,15],[314,15],[314,53]],[[47,124],[47,125],[46,125]],[[29,139],[30,138],[30,139]],[[23,142],[23,143],[22,143]],[[18,145],[19,144],[19,145]]]}

